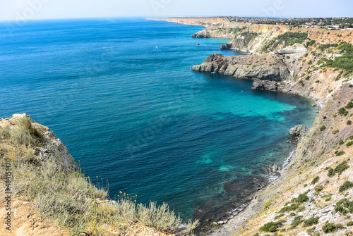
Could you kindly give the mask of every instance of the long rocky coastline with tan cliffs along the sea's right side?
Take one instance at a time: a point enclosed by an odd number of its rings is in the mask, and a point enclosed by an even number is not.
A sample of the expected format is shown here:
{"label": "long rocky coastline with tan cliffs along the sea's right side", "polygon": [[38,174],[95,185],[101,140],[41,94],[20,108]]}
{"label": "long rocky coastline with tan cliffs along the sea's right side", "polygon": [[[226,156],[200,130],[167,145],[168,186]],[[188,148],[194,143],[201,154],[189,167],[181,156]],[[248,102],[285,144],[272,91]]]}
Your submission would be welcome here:
{"label": "long rocky coastline with tan cliffs along the sea's right side", "polygon": [[253,89],[304,96],[321,108],[311,130],[292,130],[299,142],[280,178],[237,216],[214,223],[210,235],[353,235],[353,31],[223,17],[157,20],[202,25],[192,37],[232,37],[222,49],[248,54],[212,54],[193,70],[250,79]]}

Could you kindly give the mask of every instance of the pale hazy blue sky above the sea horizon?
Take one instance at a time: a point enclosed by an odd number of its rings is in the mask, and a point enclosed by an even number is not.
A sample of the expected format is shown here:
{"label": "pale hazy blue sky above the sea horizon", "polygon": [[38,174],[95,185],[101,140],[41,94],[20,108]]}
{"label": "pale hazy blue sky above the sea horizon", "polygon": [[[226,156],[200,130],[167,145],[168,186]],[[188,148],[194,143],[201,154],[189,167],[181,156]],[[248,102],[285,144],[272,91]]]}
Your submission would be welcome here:
{"label": "pale hazy blue sky above the sea horizon", "polygon": [[352,0],[0,0],[0,20],[128,16],[353,17]]}

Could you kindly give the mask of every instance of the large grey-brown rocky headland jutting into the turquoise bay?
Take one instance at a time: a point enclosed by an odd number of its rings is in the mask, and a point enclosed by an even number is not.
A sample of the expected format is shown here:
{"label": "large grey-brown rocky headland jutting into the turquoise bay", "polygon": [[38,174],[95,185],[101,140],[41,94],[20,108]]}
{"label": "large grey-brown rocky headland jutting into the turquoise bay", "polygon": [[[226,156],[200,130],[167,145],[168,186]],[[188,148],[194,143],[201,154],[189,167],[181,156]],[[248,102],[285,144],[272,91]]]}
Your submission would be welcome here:
{"label": "large grey-brown rocky headland jutting into the turquoise bay", "polygon": [[251,80],[255,78],[276,81],[292,79],[285,63],[275,54],[242,56],[211,54],[204,63],[191,69]]}

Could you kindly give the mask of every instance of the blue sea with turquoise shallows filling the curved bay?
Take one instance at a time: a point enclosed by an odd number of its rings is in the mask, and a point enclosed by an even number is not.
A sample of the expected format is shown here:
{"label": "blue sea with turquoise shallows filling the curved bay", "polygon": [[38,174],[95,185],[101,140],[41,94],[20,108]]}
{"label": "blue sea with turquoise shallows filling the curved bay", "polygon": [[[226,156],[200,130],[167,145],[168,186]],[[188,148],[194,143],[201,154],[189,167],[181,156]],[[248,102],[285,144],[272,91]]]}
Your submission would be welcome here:
{"label": "blue sea with turquoise shallows filling the curved bay", "polygon": [[266,182],[265,165],[282,165],[289,128],[310,126],[316,108],[190,70],[210,54],[237,55],[220,51],[227,39],[191,38],[202,29],[132,18],[1,23],[0,117],[28,113],[48,126],[93,182],[109,180],[113,199],[137,194],[217,220]]}

